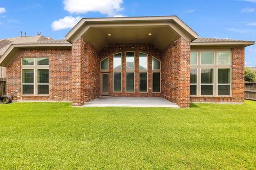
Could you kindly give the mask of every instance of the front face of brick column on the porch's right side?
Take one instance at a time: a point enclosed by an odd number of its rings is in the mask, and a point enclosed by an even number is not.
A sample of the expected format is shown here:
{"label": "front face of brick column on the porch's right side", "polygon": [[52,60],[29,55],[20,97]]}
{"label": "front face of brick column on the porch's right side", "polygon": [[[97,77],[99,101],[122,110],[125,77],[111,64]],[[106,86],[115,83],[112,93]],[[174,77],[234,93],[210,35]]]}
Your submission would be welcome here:
{"label": "front face of brick column on the porch's right side", "polygon": [[177,39],[177,66],[177,104],[180,107],[189,107],[190,42],[182,37]]}

